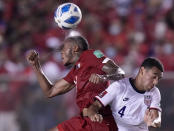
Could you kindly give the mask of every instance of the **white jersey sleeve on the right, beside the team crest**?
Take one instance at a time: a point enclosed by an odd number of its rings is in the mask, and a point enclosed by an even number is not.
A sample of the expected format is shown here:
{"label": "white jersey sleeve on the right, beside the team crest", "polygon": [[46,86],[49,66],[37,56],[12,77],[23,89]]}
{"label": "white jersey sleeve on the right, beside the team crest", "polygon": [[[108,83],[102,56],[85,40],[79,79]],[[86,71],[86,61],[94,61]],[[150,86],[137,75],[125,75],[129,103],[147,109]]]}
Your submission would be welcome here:
{"label": "white jersey sleeve on the right, beside the team crest", "polygon": [[152,94],[152,103],[150,105],[150,109],[157,109],[161,111],[161,94],[158,88],[154,88],[153,94]]}

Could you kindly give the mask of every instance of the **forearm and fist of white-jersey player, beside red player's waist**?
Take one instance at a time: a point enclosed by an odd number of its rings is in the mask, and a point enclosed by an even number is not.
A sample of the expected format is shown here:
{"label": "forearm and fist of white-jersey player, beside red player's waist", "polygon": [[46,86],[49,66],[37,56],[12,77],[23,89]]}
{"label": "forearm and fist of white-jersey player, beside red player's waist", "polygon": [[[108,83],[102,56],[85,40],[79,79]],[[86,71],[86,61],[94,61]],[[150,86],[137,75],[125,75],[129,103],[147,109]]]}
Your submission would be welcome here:
{"label": "forearm and fist of white-jersey player, beside red player's waist", "polygon": [[93,122],[102,122],[102,115],[98,114],[98,110],[102,107],[102,104],[96,100],[92,105],[88,108],[83,109],[83,116],[87,116]]}

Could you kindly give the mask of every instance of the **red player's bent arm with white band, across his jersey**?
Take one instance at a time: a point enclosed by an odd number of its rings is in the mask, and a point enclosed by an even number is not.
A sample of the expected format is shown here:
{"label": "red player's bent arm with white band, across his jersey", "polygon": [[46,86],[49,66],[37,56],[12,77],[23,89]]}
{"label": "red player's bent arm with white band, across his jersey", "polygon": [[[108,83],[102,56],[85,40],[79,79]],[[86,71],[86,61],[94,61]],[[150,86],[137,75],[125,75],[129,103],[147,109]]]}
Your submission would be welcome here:
{"label": "red player's bent arm with white band, across his jersey", "polygon": [[100,81],[120,80],[124,78],[125,75],[125,72],[110,59],[105,62],[102,71],[104,71],[106,75],[92,74],[89,81],[97,84]]}

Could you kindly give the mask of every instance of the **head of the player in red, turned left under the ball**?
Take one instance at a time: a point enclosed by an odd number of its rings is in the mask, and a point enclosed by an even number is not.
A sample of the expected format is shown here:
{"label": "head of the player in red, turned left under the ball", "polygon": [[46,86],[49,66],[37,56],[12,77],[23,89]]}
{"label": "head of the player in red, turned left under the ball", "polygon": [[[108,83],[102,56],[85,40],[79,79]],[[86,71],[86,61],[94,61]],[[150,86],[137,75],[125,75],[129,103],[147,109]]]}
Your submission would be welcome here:
{"label": "head of the player in red, turned left under the ball", "polygon": [[67,37],[61,49],[62,61],[65,66],[74,64],[80,54],[88,50],[88,41],[82,36]]}

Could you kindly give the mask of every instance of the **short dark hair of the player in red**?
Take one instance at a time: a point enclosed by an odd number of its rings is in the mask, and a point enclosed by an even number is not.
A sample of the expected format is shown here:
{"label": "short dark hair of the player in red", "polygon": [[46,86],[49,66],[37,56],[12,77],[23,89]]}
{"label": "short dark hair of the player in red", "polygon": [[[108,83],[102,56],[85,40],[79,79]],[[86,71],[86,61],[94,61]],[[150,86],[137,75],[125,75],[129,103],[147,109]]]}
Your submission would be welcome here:
{"label": "short dark hair of the player in red", "polygon": [[65,42],[73,42],[77,44],[81,51],[89,49],[88,41],[83,36],[71,36],[65,39]]}

